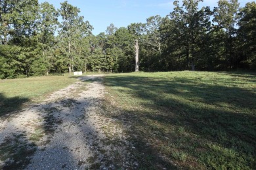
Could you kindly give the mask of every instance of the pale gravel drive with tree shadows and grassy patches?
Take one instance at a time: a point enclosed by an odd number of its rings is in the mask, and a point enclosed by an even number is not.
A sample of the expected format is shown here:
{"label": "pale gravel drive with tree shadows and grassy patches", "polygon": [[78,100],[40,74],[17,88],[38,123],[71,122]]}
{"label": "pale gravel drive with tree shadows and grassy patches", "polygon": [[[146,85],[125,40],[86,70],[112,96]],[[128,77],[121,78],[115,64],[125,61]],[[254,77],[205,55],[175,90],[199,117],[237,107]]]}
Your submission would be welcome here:
{"label": "pale gravel drive with tree shadows and grassy patches", "polygon": [[136,167],[121,127],[102,114],[102,76],[81,77],[40,105],[0,120],[0,169]]}

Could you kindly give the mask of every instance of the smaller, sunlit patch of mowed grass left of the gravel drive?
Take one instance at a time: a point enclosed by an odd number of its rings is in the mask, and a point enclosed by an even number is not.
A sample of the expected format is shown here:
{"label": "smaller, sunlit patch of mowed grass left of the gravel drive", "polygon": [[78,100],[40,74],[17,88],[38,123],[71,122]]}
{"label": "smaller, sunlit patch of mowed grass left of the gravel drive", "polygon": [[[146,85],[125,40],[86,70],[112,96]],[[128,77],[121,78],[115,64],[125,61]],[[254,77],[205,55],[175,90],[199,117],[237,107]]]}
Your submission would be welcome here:
{"label": "smaller, sunlit patch of mowed grass left of the gravel drive", "polygon": [[76,81],[70,76],[37,76],[0,80],[0,118],[28,103],[43,101],[50,93]]}

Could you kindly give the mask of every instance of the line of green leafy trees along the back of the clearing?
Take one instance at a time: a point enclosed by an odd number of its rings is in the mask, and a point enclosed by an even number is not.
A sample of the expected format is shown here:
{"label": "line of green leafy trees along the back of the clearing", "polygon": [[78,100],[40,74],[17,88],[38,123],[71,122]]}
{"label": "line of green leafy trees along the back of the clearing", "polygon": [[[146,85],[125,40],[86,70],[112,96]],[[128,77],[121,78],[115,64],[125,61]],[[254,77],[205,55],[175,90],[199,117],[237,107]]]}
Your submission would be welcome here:
{"label": "line of green leafy trees along the back of the clearing", "polygon": [[167,16],[127,27],[93,26],[67,1],[0,0],[0,78],[72,71],[131,72],[135,40],[140,71],[256,70],[256,3],[175,1]]}

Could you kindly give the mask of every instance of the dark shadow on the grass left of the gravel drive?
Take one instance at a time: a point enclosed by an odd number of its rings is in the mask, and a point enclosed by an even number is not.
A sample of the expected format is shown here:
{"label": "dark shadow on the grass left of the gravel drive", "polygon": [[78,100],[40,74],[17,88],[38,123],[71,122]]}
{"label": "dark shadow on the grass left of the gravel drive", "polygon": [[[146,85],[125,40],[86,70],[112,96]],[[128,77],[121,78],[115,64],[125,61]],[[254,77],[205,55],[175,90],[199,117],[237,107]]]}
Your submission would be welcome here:
{"label": "dark shadow on the grass left of the gravel drive", "polygon": [[6,97],[0,93],[0,118],[5,118],[7,114],[15,114],[28,101],[30,99],[26,97]]}

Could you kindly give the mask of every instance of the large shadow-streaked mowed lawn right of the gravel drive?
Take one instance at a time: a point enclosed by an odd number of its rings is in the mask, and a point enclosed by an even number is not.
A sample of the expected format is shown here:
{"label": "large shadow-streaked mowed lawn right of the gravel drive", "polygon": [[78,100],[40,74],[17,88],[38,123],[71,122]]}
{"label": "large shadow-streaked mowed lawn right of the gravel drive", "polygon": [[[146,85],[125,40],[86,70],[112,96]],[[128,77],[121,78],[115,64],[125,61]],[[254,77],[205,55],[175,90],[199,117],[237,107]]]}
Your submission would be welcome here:
{"label": "large shadow-streaked mowed lawn right of the gravel drive", "polygon": [[254,73],[127,73],[104,78],[105,116],[139,169],[256,169]]}

